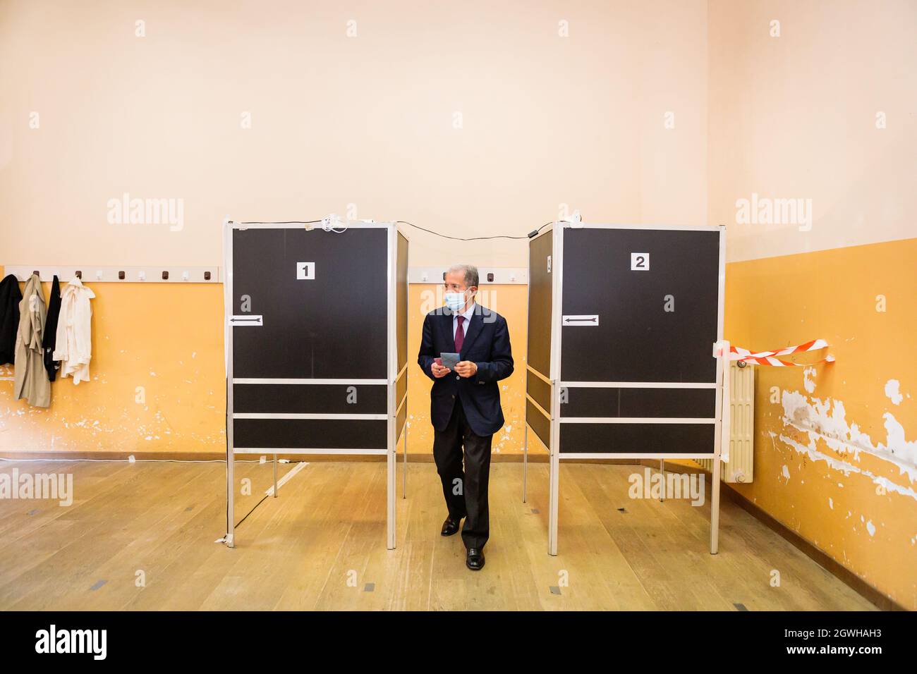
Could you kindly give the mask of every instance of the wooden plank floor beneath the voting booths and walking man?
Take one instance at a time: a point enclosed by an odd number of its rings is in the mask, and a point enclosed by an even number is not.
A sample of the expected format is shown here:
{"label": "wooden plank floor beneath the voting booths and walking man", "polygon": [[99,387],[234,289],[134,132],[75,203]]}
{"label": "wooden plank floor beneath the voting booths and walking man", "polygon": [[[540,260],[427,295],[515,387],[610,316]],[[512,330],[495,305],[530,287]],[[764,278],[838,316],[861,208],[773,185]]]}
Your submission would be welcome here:
{"label": "wooden plank floor beneath the voting booths and walking man", "polygon": [[522,466],[492,464],[480,572],[465,568],[459,536],[439,536],[432,463],[410,466],[407,499],[399,467],[395,550],[385,548],[384,463],[309,463],[263,501],[271,464],[237,463],[251,490],[236,520],[251,512],[235,549],[215,543],[226,528],[223,463],[5,461],[0,471],[14,467],[72,472],[74,501],[0,500],[3,610],[875,608],[728,501],[720,554],[710,555],[709,499],[630,499],[627,476],[643,470],[633,466],[561,467],[550,557],[547,464],[529,466],[528,503]]}

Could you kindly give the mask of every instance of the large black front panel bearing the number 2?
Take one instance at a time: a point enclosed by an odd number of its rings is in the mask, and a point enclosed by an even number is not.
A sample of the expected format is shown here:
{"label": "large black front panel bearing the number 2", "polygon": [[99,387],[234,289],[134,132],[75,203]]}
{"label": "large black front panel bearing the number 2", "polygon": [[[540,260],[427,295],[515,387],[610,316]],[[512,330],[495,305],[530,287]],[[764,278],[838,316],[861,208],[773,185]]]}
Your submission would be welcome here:
{"label": "large black front panel bearing the number 2", "polygon": [[[719,243],[716,231],[565,228],[562,314],[599,325],[561,327],[563,380],[715,381]],[[632,252],[649,253],[648,271],[631,270]]]}

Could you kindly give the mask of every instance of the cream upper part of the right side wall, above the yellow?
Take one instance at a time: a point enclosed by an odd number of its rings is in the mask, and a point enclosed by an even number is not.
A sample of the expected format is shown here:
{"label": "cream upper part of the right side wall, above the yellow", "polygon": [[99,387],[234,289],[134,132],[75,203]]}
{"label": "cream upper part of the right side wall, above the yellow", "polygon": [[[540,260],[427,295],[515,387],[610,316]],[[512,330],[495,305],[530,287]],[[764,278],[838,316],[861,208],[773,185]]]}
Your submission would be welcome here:
{"label": "cream upper part of the right side wall, above the yellow", "polygon": [[[708,13],[710,220],[728,227],[729,260],[917,236],[917,4],[711,0]],[[811,229],[737,222],[753,193],[811,199]]]}

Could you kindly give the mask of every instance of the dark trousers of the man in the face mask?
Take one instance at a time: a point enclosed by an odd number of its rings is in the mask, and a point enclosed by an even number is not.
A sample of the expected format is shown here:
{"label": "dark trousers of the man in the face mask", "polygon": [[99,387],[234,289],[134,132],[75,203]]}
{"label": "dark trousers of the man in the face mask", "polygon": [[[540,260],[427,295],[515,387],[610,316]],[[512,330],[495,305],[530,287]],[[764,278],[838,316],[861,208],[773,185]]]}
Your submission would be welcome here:
{"label": "dark trousers of the man in the face mask", "polygon": [[[493,436],[476,436],[468,425],[461,401],[456,400],[446,430],[434,430],[433,459],[443,482],[449,517],[465,517],[461,530],[465,547],[484,547],[490,534],[487,482],[491,475]],[[462,444],[465,468],[462,470]]]}

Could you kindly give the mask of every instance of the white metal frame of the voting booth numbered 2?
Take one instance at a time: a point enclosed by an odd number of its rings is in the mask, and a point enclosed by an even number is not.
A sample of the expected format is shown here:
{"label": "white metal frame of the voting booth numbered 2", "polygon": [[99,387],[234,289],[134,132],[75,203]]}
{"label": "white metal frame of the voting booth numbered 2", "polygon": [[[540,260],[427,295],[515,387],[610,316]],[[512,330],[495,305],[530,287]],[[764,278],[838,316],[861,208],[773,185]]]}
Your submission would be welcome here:
{"label": "white metal frame of the voting booth numbered 2", "polygon": [[[618,230],[637,230],[637,231],[691,231],[691,232],[718,232],[719,233],[719,253],[718,253],[718,274],[717,274],[717,308],[716,308],[716,342],[711,342],[711,357],[715,362],[715,379],[713,381],[566,381],[561,372],[561,336],[562,320],[574,318],[574,316],[564,316],[563,306],[563,280],[564,280],[564,231],[570,229],[618,229]],[[707,235],[709,237],[709,235]],[[549,245],[547,257],[547,273],[550,283],[550,349],[549,349],[549,371],[543,372],[532,365],[532,284],[536,277],[536,268],[534,265],[540,265],[545,260],[543,256],[536,260],[530,252],[530,272],[528,288],[528,312],[529,312],[529,353],[526,362],[525,371],[525,399],[526,399],[526,423],[525,423],[525,454],[524,454],[524,478],[523,478],[523,501],[525,502],[526,478],[527,478],[527,461],[528,461],[528,432],[532,423],[541,427],[541,433],[536,431],[536,435],[544,438],[547,435],[547,441],[543,439],[543,444],[547,446],[549,453],[549,492],[548,492],[548,535],[547,545],[548,554],[558,554],[558,492],[559,492],[559,467],[560,460],[576,459],[660,459],[660,465],[664,469],[665,459],[713,459],[713,484],[711,485],[711,530],[710,530],[710,552],[716,554],[719,546],[719,507],[720,507],[720,470],[721,456],[728,460],[728,450],[723,451],[723,447],[728,447],[729,442],[729,344],[723,339],[724,327],[724,291],[725,291],[725,228],[724,227],[678,227],[678,226],[643,226],[643,225],[593,225],[580,223],[578,220],[573,222],[558,221],[551,225],[546,231],[530,239],[529,247],[532,251],[536,246],[536,241],[541,238],[545,241],[544,246]],[[543,251],[542,251],[543,252]],[[631,258],[633,265],[633,257]],[[648,260],[647,260],[648,263]],[[632,269],[634,267],[632,266]],[[543,292],[542,287],[541,291]],[[544,294],[544,293],[542,293]],[[536,307],[536,311],[538,311]],[[544,320],[545,316],[541,319]],[[580,318],[580,316],[575,316]],[[582,316],[582,320],[591,320],[591,317]],[[598,315],[595,316],[598,321]],[[568,328],[571,329],[571,328]],[[572,328],[577,329],[577,328]],[[589,329],[589,328],[583,328]],[[660,358],[667,357],[668,354],[660,354]],[[548,354],[544,354],[544,361]],[[547,364],[547,363],[546,363]],[[547,388],[546,388],[547,387]],[[667,417],[644,417],[644,418],[625,418],[622,416],[590,416],[589,418],[578,418],[573,416],[563,416],[561,414],[561,395],[563,392],[571,389],[596,390],[596,389],[624,389],[624,390],[654,390],[654,389],[714,389],[714,407],[713,414],[710,416],[688,418],[679,416],[674,418]],[[539,404],[536,397],[533,397],[533,391],[541,391],[542,403],[549,399],[549,409],[545,409],[543,404]],[[666,393],[666,392],[663,392]],[[676,393],[678,394],[678,393]],[[713,425],[713,446],[707,450],[697,452],[564,452],[560,451],[561,425],[590,423],[590,424],[673,424],[673,425]],[[672,426],[673,428],[676,426]],[[533,426],[533,430],[535,426]]]}

